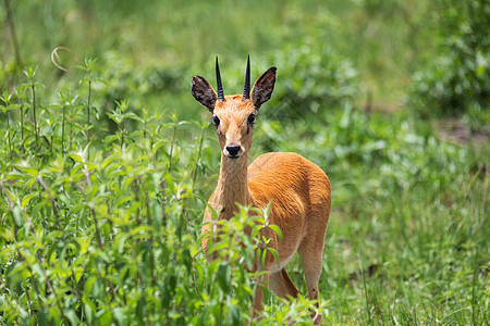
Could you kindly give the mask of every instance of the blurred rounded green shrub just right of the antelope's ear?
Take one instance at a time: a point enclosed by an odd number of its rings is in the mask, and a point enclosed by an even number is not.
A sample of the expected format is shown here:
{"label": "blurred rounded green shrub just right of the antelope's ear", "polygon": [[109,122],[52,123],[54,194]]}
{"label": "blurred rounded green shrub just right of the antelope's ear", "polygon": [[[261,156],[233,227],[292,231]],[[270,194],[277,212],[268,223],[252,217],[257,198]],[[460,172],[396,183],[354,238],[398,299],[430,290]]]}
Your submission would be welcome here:
{"label": "blurred rounded green shrub just right of the antelope's ear", "polygon": [[320,106],[339,106],[352,100],[357,91],[357,71],[353,64],[336,55],[329,46],[289,46],[271,54],[278,71],[272,97],[273,110],[265,115],[274,118],[307,116]]}

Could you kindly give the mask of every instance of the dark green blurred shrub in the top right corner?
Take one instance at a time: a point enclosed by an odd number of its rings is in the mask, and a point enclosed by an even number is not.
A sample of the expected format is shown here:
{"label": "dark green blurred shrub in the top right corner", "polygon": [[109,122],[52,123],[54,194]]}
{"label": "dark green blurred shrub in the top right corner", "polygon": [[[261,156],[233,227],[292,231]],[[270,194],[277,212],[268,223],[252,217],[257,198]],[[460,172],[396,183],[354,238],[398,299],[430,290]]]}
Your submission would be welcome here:
{"label": "dark green blurred shrub in the top right corner", "polygon": [[425,115],[487,110],[490,105],[490,3],[439,0],[434,4],[441,54],[414,76],[412,101]]}

